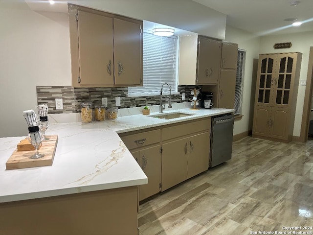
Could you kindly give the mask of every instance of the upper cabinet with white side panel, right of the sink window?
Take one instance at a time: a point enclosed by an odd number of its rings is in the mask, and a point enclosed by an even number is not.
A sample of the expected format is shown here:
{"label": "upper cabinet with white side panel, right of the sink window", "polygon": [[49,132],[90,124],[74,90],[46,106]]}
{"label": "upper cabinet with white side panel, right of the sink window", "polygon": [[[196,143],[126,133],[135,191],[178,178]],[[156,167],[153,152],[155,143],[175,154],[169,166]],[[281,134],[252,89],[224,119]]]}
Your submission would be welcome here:
{"label": "upper cabinet with white side panel, right of the sink window", "polygon": [[179,38],[179,85],[218,84],[221,41],[198,35]]}

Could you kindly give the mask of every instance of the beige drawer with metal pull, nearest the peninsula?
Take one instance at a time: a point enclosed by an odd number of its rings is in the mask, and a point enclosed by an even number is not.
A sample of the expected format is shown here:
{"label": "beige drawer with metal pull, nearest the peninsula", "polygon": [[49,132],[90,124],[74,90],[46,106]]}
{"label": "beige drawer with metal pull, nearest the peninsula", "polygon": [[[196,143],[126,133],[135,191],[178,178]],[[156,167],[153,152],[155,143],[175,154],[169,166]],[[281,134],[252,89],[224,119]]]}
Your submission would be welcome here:
{"label": "beige drawer with metal pull, nearest the peninsula", "polygon": [[137,134],[121,136],[128,149],[143,147],[160,141],[161,130],[146,131]]}

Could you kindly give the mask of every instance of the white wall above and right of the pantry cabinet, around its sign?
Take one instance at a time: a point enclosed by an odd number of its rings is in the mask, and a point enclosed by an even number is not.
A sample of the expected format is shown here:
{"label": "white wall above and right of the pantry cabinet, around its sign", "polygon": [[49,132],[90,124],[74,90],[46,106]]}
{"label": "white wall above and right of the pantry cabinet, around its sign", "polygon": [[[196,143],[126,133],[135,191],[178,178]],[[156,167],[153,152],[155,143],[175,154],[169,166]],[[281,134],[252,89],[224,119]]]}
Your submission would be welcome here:
{"label": "white wall above and right of the pantry cabinet, around its sign", "polygon": [[[312,39],[313,31],[275,36],[263,36],[261,37],[260,41],[260,53],[262,54],[262,53],[281,53],[281,52],[301,52],[302,63],[300,71],[300,80],[307,80],[310,47],[313,47]],[[275,43],[285,43],[285,42],[291,42],[292,47],[287,49],[276,49],[276,50],[273,48]],[[293,136],[300,136],[304,94],[305,86],[299,86]]]}

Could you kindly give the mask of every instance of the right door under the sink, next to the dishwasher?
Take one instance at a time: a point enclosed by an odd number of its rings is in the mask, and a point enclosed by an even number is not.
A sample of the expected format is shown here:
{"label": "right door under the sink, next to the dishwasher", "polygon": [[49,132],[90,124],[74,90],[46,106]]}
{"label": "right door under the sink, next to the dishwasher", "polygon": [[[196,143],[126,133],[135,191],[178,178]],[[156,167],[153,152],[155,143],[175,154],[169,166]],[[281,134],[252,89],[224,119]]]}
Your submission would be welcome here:
{"label": "right door under the sink, next to the dishwasher", "polygon": [[200,174],[209,167],[210,132],[189,138],[188,178]]}

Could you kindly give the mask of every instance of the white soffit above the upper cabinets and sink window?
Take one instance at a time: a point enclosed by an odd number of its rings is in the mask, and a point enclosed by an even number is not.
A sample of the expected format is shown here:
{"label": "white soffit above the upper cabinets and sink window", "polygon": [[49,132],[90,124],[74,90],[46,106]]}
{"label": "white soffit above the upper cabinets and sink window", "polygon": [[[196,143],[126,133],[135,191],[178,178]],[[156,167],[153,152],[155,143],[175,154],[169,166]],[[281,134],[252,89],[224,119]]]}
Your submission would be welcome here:
{"label": "white soffit above the upper cabinets and sink window", "polygon": [[191,0],[72,0],[71,2],[213,38],[225,37],[226,15]]}

